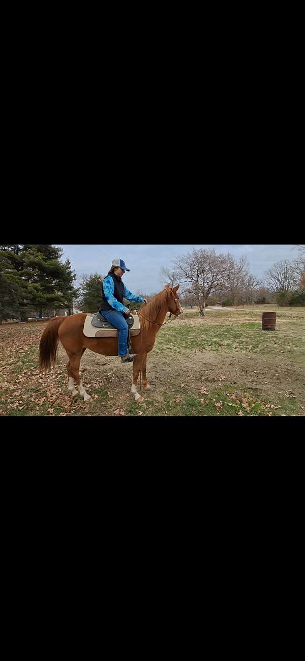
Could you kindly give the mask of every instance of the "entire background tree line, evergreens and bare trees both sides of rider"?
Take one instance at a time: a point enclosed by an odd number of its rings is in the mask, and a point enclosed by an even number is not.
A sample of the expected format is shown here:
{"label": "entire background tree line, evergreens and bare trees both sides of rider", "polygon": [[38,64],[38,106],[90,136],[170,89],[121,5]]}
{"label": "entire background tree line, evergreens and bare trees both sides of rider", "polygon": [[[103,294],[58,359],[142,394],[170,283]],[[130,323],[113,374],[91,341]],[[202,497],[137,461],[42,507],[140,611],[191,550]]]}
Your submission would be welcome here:
{"label": "entire background tree line, evergreens and bare trees both sides of rider", "polygon": [[[257,278],[250,272],[246,256],[216,254],[214,249],[193,250],[178,256],[160,270],[160,284],[180,284],[183,305],[237,305],[273,303],[305,305],[305,246],[297,245],[292,261],[276,262]],[[54,245],[0,245],[0,321],[28,319],[31,311],[42,313],[67,309],[73,305],[94,312],[102,299],[102,280],[98,274],[77,274],[63,251]],[[148,301],[154,293],[138,291]],[[127,301],[126,301],[127,304]],[[132,307],[141,307],[141,303]]]}

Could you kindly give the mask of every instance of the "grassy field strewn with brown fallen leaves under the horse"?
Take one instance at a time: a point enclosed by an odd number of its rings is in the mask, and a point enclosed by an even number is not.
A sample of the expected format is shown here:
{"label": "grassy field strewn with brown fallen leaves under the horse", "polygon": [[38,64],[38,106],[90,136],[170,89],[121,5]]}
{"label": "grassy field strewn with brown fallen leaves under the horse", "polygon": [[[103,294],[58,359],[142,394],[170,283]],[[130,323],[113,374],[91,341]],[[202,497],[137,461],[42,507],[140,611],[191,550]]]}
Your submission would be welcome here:
{"label": "grassy field strewn with brown fallen leaves under the horse", "polygon": [[[262,311],[277,311],[277,331],[261,331]],[[0,326],[0,415],[304,416],[305,309],[263,305],[196,309],[164,326],[147,360],[154,391],[135,403],[132,366],[86,351],[81,377],[94,403],[67,390],[67,356],[40,374],[44,323]],[[139,387],[138,387],[139,389]]]}

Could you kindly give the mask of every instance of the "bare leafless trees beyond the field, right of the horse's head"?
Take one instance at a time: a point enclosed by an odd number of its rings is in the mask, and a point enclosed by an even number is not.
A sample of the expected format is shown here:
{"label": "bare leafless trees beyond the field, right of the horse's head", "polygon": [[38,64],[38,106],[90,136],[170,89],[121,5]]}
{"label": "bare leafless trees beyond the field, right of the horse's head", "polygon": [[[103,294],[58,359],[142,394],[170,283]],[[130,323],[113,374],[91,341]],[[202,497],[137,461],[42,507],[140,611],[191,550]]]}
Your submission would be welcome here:
{"label": "bare leafless trees beyond the field, right of the horse's head", "polygon": [[240,303],[273,303],[305,305],[305,247],[298,245],[298,257],[282,260],[269,268],[263,278],[250,272],[246,256],[234,258],[231,253],[215,249],[193,250],[176,257],[170,266],[160,270],[160,283],[180,282],[182,304],[238,305]]}

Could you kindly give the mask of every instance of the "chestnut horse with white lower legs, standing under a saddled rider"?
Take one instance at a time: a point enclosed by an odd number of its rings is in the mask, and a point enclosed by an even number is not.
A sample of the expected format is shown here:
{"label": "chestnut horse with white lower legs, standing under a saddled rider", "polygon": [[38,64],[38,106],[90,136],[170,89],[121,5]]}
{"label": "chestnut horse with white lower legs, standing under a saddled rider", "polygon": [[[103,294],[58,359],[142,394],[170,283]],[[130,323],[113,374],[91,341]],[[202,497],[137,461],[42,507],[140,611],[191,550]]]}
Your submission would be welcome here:
{"label": "chestnut horse with white lower legs, standing under a saddled rider", "polygon": [[[133,362],[133,381],[131,385],[131,393],[134,395],[135,401],[143,401],[141,395],[137,392],[137,381],[140,371],[142,371],[143,389],[145,391],[152,390],[147,382],[146,375],[147,354],[154,348],[156,334],[164,323],[166,313],[170,312],[176,318],[183,312],[177,293],[178,289],[179,285],[174,288],[167,285],[162,292],[156,294],[152,301],[143,305],[139,311],[141,333],[134,336],[131,340],[133,350],[138,354]],[[86,393],[79,377],[79,368],[83,353],[86,349],[90,349],[90,351],[94,351],[96,354],[102,354],[102,356],[118,356],[118,338],[86,337],[83,332],[85,321],[85,313],[71,317],[55,317],[55,319],[51,319],[40,339],[39,367],[40,371],[48,371],[48,369],[55,365],[60,340],[69,358],[69,363],[67,364],[69,391],[75,397],[78,394],[78,387],[79,395],[86,402],[91,397]]]}

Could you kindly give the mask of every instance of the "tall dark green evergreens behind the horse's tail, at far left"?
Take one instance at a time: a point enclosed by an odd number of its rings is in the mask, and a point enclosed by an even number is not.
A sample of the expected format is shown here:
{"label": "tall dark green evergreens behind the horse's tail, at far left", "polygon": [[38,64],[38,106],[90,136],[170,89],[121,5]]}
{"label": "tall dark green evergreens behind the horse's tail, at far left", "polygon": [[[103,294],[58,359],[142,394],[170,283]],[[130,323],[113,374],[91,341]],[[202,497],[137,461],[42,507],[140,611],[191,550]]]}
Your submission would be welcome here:
{"label": "tall dark green evergreens behind the horse's tail, at far left", "polygon": [[73,314],[77,274],[62,254],[51,244],[0,245],[0,321],[60,308]]}

